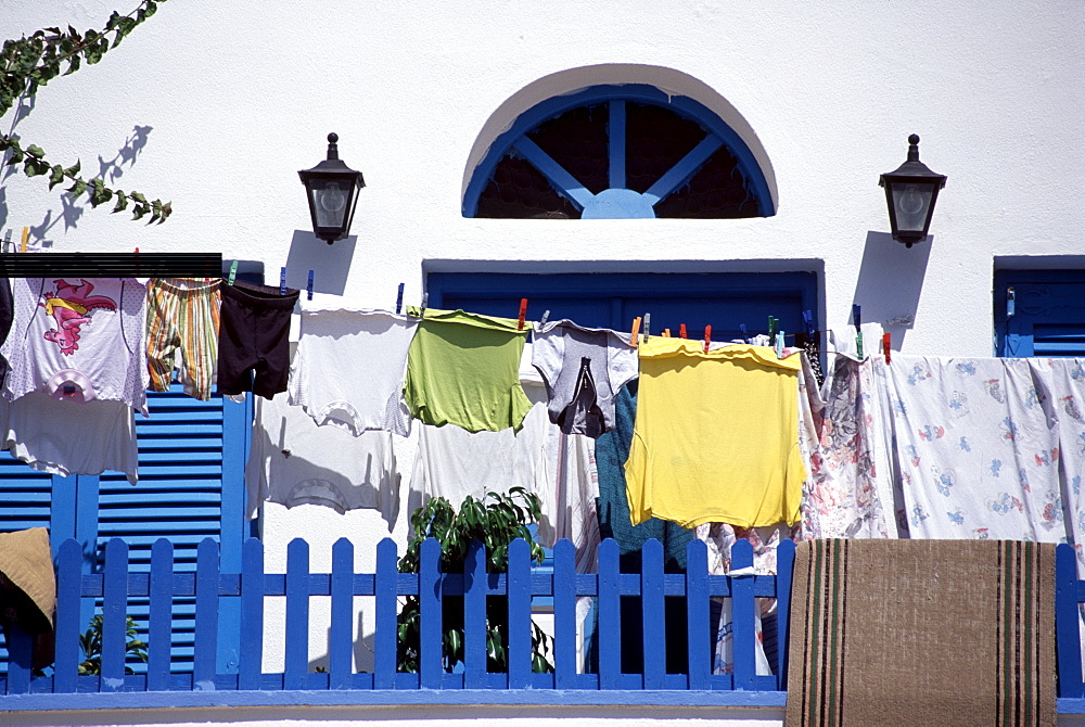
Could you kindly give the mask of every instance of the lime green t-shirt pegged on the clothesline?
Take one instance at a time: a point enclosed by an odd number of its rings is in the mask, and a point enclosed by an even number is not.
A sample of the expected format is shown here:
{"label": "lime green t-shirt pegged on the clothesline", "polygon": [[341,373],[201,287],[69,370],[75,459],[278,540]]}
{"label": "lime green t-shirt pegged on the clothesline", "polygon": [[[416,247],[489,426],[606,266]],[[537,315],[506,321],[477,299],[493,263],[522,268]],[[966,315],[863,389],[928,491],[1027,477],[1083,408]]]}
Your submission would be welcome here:
{"label": "lime green t-shirt pegged on the clothesline", "polygon": [[529,329],[516,326],[510,318],[426,308],[407,354],[404,397],[411,416],[469,432],[520,431],[532,408],[520,385]]}

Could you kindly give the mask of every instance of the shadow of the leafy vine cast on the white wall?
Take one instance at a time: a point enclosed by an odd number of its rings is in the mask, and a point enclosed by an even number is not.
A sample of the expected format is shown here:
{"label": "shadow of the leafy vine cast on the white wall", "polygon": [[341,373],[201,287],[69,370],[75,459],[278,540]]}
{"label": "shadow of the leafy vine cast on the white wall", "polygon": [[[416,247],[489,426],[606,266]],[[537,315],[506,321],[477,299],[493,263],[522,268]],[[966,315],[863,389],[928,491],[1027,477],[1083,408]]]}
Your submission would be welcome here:
{"label": "shadow of the leafy vine cast on the white wall", "polygon": [[[33,110],[33,107],[34,107],[33,103],[29,104],[29,105],[27,105],[24,102],[23,104],[20,105],[18,110],[15,113],[15,120],[12,123],[12,131],[13,132],[14,132],[15,126],[18,124],[18,122],[22,120],[23,118],[25,118],[26,116],[28,116],[30,114],[30,111]],[[126,167],[131,167],[131,166],[133,166],[136,164],[136,160],[140,155],[140,152],[142,152],[143,148],[146,146],[148,137],[151,135],[151,130],[152,130],[152,127],[150,127],[150,126],[139,126],[139,125],[137,125],[137,126],[132,127],[131,135],[128,137],[128,139],[125,140],[124,145],[120,146],[120,149],[117,150],[117,153],[113,155],[112,160],[105,160],[101,155],[99,155],[99,157],[98,157],[98,174],[94,175],[93,178],[95,178],[95,179],[104,179],[105,182],[106,182],[106,184],[110,186],[110,187],[116,186],[117,181],[122,177],[124,177],[124,175],[125,175],[125,168]],[[4,156],[4,160],[7,160],[7,158],[8,158],[8,155]],[[75,161],[74,160],[64,160],[64,161],[56,160],[55,163],[56,164],[62,164],[64,166],[72,166],[73,164],[75,164]],[[84,178],[85,179],[88,179],[88,180],[91,179],[91,177],[89,177],[89,173],[90,173],[90,168],[88,167],[84,171],[84,175],[85,175]],[[0,177],[0,183],[7,181],[12,176],[18,175],[18,174],[23,174],[23,167],[22,166],[17,166],[17,167],[16,166],[4,166],[3,176]],[[44,178],[42,178],[42,179],[44,179]],[[66,188],[68,186],[71,186],[71,180],[65,180],[65,183],[62,186],[61,189],[64,189],[64,188]],[[60,199],[60,203],[61,203],[61,212],[60,212],[60,214],[54,214],[53,209],[49,209],[48,212],[46,212],[46,216],[37,225],[28,224],[28,222],[26,222],[24,220],[11,220],[11,224],[14,225],[15,227],[29,227],[30,228],[30,238],[37,244],[40,244],[40,245],[43,245],[43,246],[49,246],[49,245],[52,244],[52,241],[49,239],[49,232],[54,227],[56,227],[56,225],[59,222],[61,222],[61,221],[64,222],[64,230],[65,231],[78,227],[79,218],[82,217],[84,213],[87,211],[87,206],[90,203],[87,202],[87,197],[85,195],[81,195],[79,197],[80,201],[76,202],[76,201],[74,201],[72,199],[71,194],[63,193],[63,192],[60,191],[60,189],[54,189],[52,191],[49,191],[48,186],[43,181],[41,182],[41,191],[40,191],[40,193],[41,194],[55,194],[55,195],[58,195],[58,197]],[[144,193],[148,194],[149,199],[152,196],[152,194],[149,193],[149,192],[144,192]],[[114,205],[114,202],[106,202],[106,203],[104,203],[103,206],[106,206],[108,209],[112,209],[113,205]],[[122,213],[122,214],[124,214],[124,213]],[[8,197],[7,197],[7,194],[3,193],[3,190],[0,189],[0,229],[7,227],[8,225],[9,225]]]}

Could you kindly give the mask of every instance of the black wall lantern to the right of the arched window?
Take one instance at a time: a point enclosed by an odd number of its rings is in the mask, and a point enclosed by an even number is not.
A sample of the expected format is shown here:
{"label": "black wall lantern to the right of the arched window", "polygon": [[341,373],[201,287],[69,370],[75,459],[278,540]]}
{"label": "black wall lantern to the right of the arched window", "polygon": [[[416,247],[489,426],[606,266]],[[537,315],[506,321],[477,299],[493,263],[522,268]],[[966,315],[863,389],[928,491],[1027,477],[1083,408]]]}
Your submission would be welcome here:
{"label": "black wall lantern to the right of the arched window", "polygon": [[908,247],[927,239],[934,203],[939,190],[946,186],[946,176],[934,174],[919,161],[918,135],[908,137],[908,161],[894,171],[881,175],[878,186],[885,188],[893,239]]}

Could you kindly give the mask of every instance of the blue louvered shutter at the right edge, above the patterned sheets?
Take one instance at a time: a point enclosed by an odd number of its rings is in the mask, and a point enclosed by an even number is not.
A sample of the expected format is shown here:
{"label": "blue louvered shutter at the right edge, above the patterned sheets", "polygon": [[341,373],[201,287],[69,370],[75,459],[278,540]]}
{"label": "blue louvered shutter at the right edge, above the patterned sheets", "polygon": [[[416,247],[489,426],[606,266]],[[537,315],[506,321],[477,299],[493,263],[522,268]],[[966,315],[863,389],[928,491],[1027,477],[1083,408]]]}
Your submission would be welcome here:
{"label": "blue louvered shutter at the right edge, above the patterned sheets", "polygon": [[998,356],[1085,356],[1085,270],[995,273]]}

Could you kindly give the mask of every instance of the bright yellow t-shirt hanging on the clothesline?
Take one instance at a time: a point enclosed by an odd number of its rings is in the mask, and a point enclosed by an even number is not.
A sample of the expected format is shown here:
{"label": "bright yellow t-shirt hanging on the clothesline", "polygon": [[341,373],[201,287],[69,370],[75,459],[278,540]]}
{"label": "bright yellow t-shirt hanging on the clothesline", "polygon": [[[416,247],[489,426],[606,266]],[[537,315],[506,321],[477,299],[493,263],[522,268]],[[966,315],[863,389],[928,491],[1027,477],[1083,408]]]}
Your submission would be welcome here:
{"label": "bright yellow t-shirt hanging on the clothesline", "polygon": [[685,527],[799,521],[799,356],[765,346],[703,353],[700,341],[640,345],[640,392],[625,463],[629,519]]}

